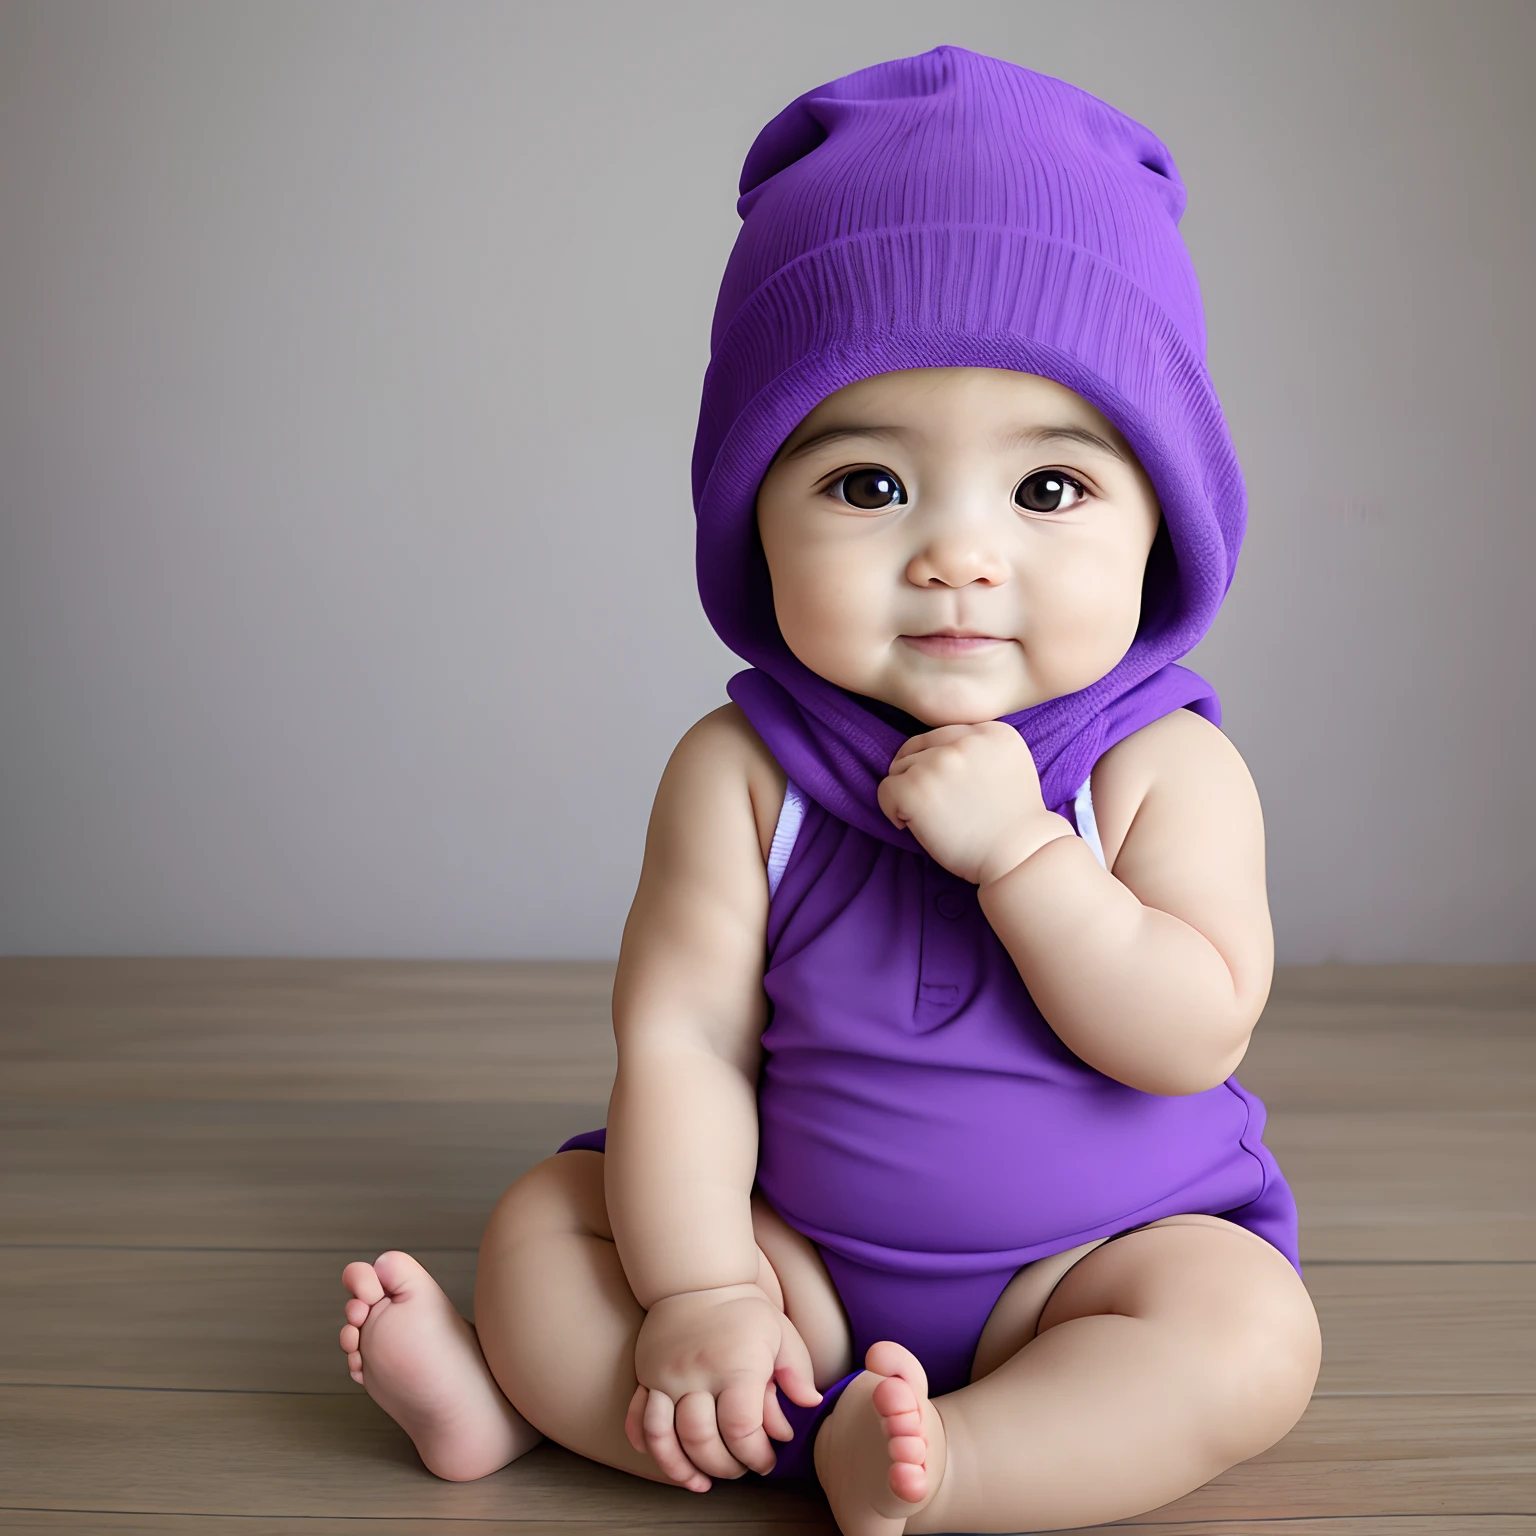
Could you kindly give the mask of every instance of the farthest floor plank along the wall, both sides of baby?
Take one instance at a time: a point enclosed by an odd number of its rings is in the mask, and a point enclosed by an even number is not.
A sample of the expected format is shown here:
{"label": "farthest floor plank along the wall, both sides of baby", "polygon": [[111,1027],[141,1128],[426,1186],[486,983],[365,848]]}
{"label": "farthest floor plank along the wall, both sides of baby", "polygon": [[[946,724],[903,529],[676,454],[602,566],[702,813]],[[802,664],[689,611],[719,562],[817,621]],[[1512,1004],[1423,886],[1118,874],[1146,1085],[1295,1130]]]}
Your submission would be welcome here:
{"label": "farthest floor plank along the wall, both sides of baby", "polygon": [[[12,1100],[605,1103],[608,962],[0,960]],[[1279,968],[1275,1109],[1536,1106],[1536,966]]]}

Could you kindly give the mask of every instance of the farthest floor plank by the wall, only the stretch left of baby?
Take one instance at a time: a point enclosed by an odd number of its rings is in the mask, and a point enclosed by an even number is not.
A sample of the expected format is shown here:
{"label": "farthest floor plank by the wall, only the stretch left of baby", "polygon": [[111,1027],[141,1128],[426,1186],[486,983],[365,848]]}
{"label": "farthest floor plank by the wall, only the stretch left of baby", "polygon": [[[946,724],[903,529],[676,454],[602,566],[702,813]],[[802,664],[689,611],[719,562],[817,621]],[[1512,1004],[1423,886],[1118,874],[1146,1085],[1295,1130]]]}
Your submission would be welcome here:
{"label": "farthest floor plank by the wall, only the stretch left of baby", "polygon": [[0,1095],[607,1103],[611,991],[585,960],[0,960]]}

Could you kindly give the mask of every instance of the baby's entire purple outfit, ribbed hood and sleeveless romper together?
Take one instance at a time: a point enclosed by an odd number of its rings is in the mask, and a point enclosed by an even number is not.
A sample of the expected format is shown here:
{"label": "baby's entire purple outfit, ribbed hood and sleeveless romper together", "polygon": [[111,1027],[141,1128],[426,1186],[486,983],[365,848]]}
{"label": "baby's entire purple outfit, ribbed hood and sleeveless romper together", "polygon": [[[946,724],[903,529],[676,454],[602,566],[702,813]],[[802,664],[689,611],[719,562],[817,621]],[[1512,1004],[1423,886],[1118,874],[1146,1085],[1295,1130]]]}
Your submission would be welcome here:
{"label": "baby's entire purple outfit, ribbed hood and sleeveless romper together", "polygon": [[[740,194],[693,487],[699,593],[751,664],[730,696],[790,779],[786,811],[803,806],[788,859],[776,842],[770,860],[757,1181],[820,1250],[856,1361],[897,1339],[945,1393],[1020,1266],[1206,1212],[1299,1273],[1296,1207],[1236,1078],[1166,1097],[1087,1066],[975,888],[886,820],[876,790],[905,733],[785,645],[757,487],[822,399],[900,369],[1035,373],[1115,424],[1163,513],[1135,639],[1089,687],[1005,716],[1046,806],[1101,860],[1075,814],[1098,757],[1177,708],[1221,722],[1177,657],[1232,584],[1246,490],[1204,366],[1184,184],[1167,146],[1107,103],[937,48],[790,103]],[[594,1130],[561,1150],[604,1144]],[[849,1379],[814,1410],[782,1399],[796,1439],[773,1476],[814,1475],[816,1427]]]}

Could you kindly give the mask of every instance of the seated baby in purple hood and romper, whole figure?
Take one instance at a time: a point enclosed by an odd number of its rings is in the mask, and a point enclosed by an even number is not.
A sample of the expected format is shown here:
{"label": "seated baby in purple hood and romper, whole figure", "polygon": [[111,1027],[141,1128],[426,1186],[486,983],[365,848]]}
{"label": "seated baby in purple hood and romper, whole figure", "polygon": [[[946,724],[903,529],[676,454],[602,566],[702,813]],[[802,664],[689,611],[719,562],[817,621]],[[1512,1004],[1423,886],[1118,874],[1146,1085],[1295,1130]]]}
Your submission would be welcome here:
{"label": "seated baby in purple hood and romper, whole figure", "polygon": [[355,1381],[442,1478],[550,1436],[848,1536],[1157,1508],[1321,1358],[1232,1077],[1258,796],[1175,665],[1235,570],[1184,189],[955,48],[791,103],[742,174],[694,450],[753,668],[662,776],[604,1130],[507,1190],[475,1327],[350,1264]]}

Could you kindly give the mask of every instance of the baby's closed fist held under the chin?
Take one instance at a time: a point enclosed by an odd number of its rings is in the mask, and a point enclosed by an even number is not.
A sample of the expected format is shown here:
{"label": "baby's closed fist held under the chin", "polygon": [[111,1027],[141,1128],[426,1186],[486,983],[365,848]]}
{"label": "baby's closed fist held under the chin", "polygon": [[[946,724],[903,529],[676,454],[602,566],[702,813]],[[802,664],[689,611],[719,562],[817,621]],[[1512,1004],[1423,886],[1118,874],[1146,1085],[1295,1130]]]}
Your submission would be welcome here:
{"label": "baby's closed fist held under the chin", "polygon": [[1048,811],[1025,739],[1001,720],[942,725],[914,736],[891,759],[880,809],[951,874],[988,885],[1037,848],[1072,836]]}

